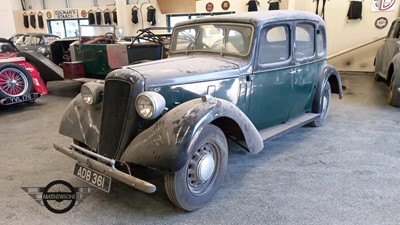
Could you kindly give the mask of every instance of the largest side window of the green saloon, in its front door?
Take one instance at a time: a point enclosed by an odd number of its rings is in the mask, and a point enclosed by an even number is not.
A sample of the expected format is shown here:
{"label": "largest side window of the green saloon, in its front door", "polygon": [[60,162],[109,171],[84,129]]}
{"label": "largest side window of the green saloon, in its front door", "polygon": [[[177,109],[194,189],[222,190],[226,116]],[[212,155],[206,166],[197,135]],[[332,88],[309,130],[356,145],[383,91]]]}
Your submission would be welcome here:
{"label": "largest side window of the green saloon, in its front door", "polygon": [[284,62],[290,57],[289,27],[279,25],[262,32],[258,49],[258,63]]}

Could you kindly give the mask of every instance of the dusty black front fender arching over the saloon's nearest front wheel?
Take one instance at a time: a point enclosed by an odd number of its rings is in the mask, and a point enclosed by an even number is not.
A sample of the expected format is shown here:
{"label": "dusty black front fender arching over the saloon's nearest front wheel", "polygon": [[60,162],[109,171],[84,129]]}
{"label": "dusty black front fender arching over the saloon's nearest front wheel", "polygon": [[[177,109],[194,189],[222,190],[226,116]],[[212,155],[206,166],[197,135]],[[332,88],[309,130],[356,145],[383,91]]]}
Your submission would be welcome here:
{"label": "dusty black front fender arching over the saloon's nearest front wheel", "polygon": [[238,123],[250,152],[257,153],[264,148],[259,132],[239,108],[223,99],[198,98],[175,107],[136,136],[121,160],[177,171],[187,162],[192,140],[196,140],[207,124],[221,117]]}

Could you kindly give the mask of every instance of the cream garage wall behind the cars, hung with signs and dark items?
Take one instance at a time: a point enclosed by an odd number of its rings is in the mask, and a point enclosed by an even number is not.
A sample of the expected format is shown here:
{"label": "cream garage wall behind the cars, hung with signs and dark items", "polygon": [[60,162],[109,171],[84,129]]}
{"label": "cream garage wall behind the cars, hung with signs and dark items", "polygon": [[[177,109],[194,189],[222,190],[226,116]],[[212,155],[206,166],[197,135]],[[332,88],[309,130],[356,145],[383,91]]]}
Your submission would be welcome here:
{"label": "cream garage wall behind the cars, hung with signs and dark items", "polygon": [[[12,0],[8,0],[12,1]],[[178,0],[177,0],[178,1]],[[188,1],[188,0],[184,0]],[[320,8],[322,0],[320,1]],[[399,1],[397,0],[394,11],[380,11],[371,12],[371,3],[374,0],[362,0],[363,3],[363,18],[362,20],[348,20],[347,12],[349,9],[349,0],[327,0],[325,5],[325,21],[327,24],[327,36],[328,36],[328,56],[332,56],[338,52],[342,52],[354,46],[360,45],[365,42],[373,41],[386,35],[390,23],[399,16]],[[388,1],[388,0],[386,0]],[[390,1],[390,0],[389,0]],[[19,1],[15,1],[19,2]],[[37,13],[41,10],[40,0],[26,0],[27,8],[32,7],[32,10],[27,12]],[[95,9],[93,0],[70,0],[71,7],[80,10]],[[146,21],[147,7],[152,5],[156,8],[156,25],[159,27],[166,26],[166,15],[161,13],[158,7],[157,0],[98,0],[101,9],[105,9],[106,5],[114,4],[118,12],[118,35],[132,36],[135,35],[138,29],[149,27],[150,23]],[[223,0],[198,0],[196,4],[196,12],[206,12],[206,4],[211,2],[214,4],[214,10],[212,12],[224,12],[221,8]],[[248,0],[230,0],[230,8],[227,11],[235,12],[246,12]],[[259,0],[259,11],[268,10],[268,1]],[[15,4],[15,3],[14,3]],[[65,0],[45,0],[45,11],[51,11],[51,7],[54,9],[65,9]],[[139,23],[133,24],[131,22],[131,9],[133,7],[139,8]],[[281,0],[281,9],[295,9],[302,11],[315,12],[316,1],[315,0]],[[41,10],[43,12],[43,10]],[[142,13],[140,13],[142,12]],[[0,11],[1,13],[1,11]],[[42,30],[23,27],[22,23],[23,11],[14,11],[15,20],[15,31],[16,32],[47,32],[47,27]],[[44,13],[44,12],[43,12]],[[4,13],[3,13],[4,14]],[[0,14],[1,16],[1,14]],[[389,25],[383,29],[375,27],[375,21],[379,17],[387,18]],[[4,21],[4,20],[2,20]],[[10,31],[8,31],[10,32]],[[362,47],[358,50],[352,51],[335,57],[330,60],[330,63],[338,67],[340,70],[346,71],[373,71],[373,59],[378,46],[382,43],[376,42],[366,47]]]}

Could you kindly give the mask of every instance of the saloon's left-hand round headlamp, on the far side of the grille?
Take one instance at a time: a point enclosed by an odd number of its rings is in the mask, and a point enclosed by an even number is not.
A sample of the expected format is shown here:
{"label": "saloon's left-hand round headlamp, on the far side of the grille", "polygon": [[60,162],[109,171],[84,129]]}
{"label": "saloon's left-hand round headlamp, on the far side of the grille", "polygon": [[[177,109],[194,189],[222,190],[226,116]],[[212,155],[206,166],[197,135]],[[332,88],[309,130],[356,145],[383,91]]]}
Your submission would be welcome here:
{"label": "saloon's left-hand round headlamp, on the far side of the grille", "polygon": [[81,96],[88,105],[96,105],[103,99],[104,84],[99,81],[91,81],[82,85]]}

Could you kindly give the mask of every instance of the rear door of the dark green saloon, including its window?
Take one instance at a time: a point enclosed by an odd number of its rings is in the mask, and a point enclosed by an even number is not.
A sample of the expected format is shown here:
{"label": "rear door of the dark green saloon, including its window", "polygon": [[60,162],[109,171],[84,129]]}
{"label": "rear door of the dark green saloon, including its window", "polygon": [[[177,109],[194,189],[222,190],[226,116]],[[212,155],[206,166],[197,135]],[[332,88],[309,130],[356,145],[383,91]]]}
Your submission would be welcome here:
{"label": "rear door of the dark green saloon, including its window", "polygon": [[[315,84],[325,60],[317,54],[317,39],[324,40],[324,32],[316,28],[316,24],[297,21],[294,24],[294,70],[293,103],[290,118],[310,111],[314,97]],[[317,34],[318,33],[318,34]]]}

